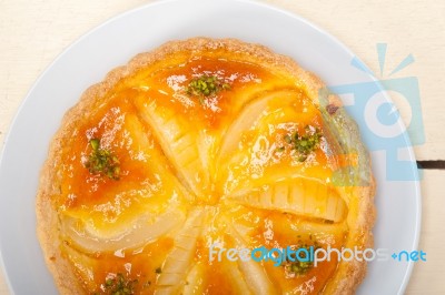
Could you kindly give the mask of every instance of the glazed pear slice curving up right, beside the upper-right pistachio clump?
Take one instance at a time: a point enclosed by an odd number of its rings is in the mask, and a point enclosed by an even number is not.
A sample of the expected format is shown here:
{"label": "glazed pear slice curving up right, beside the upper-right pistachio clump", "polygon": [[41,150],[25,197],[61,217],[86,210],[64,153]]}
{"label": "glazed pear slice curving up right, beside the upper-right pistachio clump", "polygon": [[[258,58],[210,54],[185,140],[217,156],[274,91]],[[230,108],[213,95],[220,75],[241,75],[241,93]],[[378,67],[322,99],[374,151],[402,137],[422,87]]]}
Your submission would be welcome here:
{"label": "glazed pear slice curving up right, beside the upper-right pistachio clump", "polygon": [[[268,169],[279,165],[281,160],[276,151],[288,144],[284,140],[285,134],[312,124],[317,112],[313,103],[297,90],[281,89],[258,95],[241,109],[222,134],[216,167],[225,195],[231,194],[238,185],[263,177]],[[294,174],[301,165],[291,165],[291,169],[289,173]]]}

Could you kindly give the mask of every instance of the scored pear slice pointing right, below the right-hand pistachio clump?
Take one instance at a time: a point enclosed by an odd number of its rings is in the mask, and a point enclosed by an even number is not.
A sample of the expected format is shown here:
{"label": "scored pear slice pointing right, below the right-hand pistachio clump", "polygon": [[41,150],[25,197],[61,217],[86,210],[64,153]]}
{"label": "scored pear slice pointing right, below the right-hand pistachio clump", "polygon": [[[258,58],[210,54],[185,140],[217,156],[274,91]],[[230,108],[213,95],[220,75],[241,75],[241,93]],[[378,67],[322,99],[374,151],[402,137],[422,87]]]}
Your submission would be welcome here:
{"label": "scored pear slice pointing right, below the right-hand pistachio clump", "polygon": [[239,191],[231,199],[257,208],[278,210],[332,222],[343,221],[347,212],[347,205],[335,187],[304,177]]}

